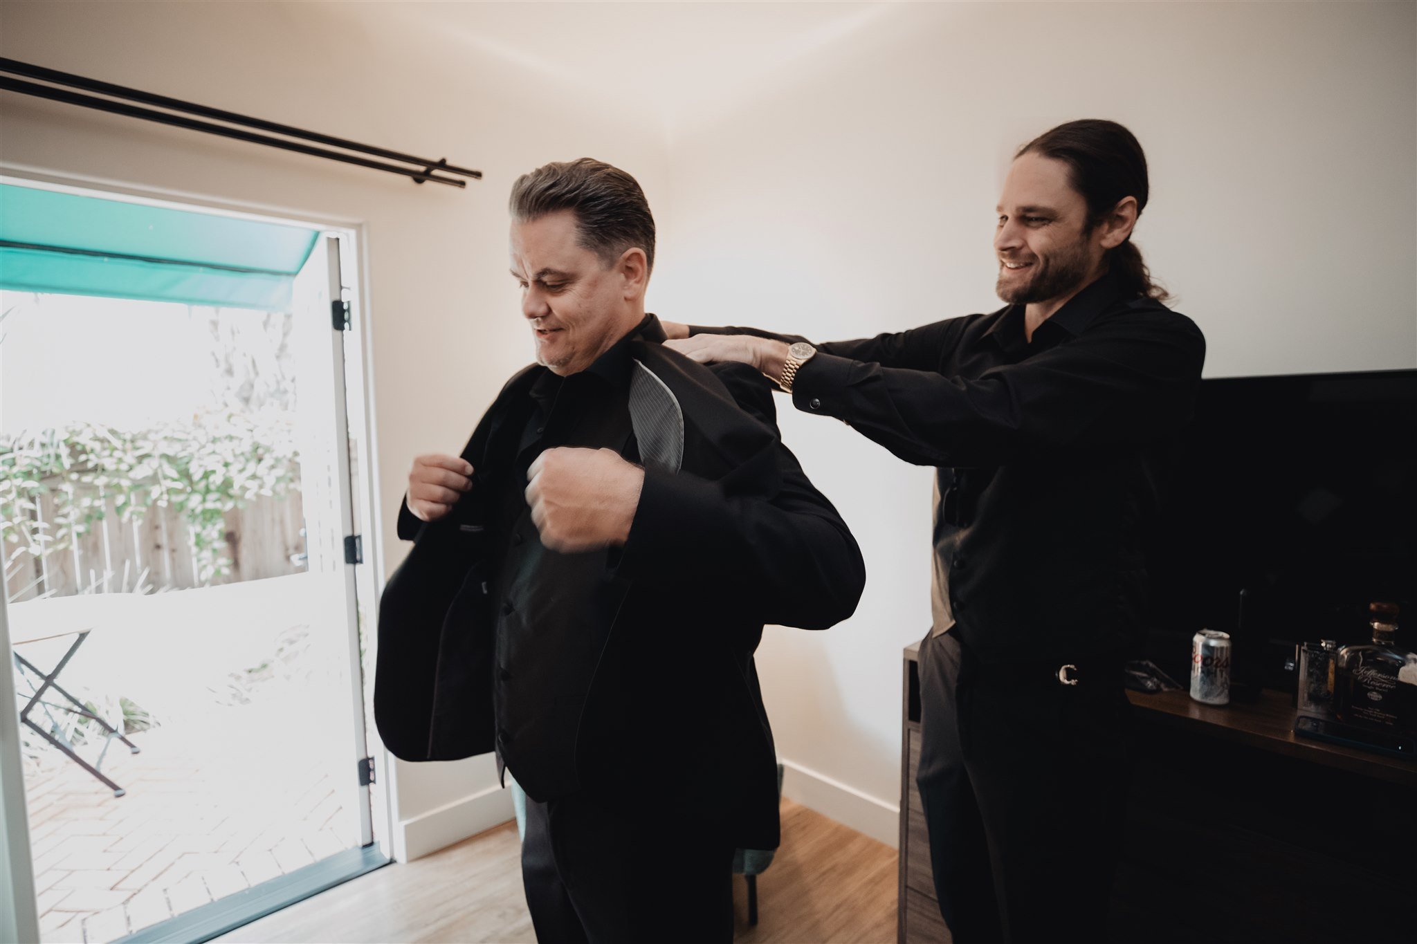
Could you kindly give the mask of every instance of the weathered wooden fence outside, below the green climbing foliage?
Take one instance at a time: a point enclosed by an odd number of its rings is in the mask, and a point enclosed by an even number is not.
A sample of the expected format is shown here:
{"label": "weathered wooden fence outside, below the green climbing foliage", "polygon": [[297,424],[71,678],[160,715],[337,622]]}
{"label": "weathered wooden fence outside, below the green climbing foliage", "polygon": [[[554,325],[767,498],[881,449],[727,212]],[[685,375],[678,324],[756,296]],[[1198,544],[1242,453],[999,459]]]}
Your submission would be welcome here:
{"label": "weathered wooden fence outside, below the green climbing foliage", "polygon": [[[55,480],[58,485],[58,480]],[[71,497],[62,487],[43,493],[37,512],[40,521],[52,522],[68,512],[82,491]],[[99,495],[98,490],[89,494]],[[191,531],[181,512],[150,508],[123,521],[113,508],[113,497],[103,495],[105,514],[88,534],[71,546],[45,555],[21,551],[6,568],[6,593],[11,601],[54,594],[130,593],[142,589],[183,590],[200,586]],[[6,512],[13,510],[6,508]],[[224,555],[231,572],[210,580],[239,583],[276,577],[305,570],[305,522],[300,493],[290,490],[281,498],[258,497],[225,514],[227,546]],[[9,556],[16,545],[4,545]]]}

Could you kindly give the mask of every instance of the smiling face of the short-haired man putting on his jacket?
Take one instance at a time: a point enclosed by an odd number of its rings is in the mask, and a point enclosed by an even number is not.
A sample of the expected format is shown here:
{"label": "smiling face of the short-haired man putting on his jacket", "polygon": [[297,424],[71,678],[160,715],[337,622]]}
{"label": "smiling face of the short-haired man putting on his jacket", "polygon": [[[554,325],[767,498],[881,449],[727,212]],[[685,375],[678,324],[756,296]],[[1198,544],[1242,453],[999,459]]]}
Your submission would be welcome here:
{"label": "smiling face of the short-haired man putting on his jacket", "polygon": [[570,209],[512,221],[512,275],[536,361],[561,376],[588,368],[645,317],[645,252],[626,249],[606,266],[580,236]]}

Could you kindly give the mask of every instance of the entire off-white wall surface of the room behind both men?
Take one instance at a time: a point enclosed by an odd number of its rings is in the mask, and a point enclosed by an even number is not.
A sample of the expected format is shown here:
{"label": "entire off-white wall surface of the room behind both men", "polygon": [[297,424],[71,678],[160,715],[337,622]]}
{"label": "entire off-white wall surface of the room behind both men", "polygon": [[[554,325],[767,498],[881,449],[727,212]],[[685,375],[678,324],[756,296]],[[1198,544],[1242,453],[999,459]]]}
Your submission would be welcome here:
{"label": "entire off-white wall surface of the room behind both men", "polygon": [[[652,310],[842,338],[996,307],[1009,154],[1057,122],[1112,117],[1148,150],[1136,239],[1206,331],[1209,375],[1417,364],[1411,3],[769,6],[601,21],[536,4],[6,4],[3,55],[487,178],[414,187],[17,96],[0,99],[0,161],[363,222],[385,510],[408,459],[459,444],[521,362],[507,185],[585,153],[645,184]],[[734,45],[727,17],[777,38]],[[894,842],[930,471],[837,423],[788,410],[782,426],[870,575],[850,621],[772,627],[760,650],[786,790]],[[384,538],[391,565],[402,551]],[[486,759],[398,773],[411,848],[479,822]]]}

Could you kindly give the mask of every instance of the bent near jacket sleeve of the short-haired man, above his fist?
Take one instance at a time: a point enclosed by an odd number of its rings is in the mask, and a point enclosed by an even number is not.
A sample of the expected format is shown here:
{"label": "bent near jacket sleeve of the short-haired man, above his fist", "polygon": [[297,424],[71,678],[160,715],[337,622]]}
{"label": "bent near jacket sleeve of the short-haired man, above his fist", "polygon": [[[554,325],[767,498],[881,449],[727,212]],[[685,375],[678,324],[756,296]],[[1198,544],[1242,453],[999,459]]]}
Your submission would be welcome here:
{"label": "bent near jacket sleeve of the short-haired man, above his fist", "polygon": [[[716,365],[740,406],[777,430],[769,382]],[[727,494],[699,476],[649,468],[619,572],[682,587],[686,601],[751,614],[755,623],[825,630],[856,610],[866,565],[856,538],[778,439],[775,494]]]}

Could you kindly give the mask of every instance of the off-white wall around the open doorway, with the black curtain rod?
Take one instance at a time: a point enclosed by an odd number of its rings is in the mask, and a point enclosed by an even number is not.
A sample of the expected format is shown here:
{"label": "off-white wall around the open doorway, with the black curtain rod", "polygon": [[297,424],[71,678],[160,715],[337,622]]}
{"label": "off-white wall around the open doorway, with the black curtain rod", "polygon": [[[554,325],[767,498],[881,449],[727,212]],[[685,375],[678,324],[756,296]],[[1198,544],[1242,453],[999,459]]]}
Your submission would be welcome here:
{"label": "off-white wall around the open doorway, with the black curtain rod", "polygon": [[[412,456],[461,449],[496,391],[530,359],[507,275],[512,181],[548,160],[592,154],[636,174],[653,201],[665,154],[657,133],[604,99],[436,31],[408,33],[397,6],[354,10],[361,6],[6,3],[0,55],[446,156],[485,171],[466,191],[10,93],[0,98],[0,170],[361,226],[391,570],[405,553],[393,510]],[[398,761],[395,839],[415,858],[510,818],[495,783],[490,756]]]}

